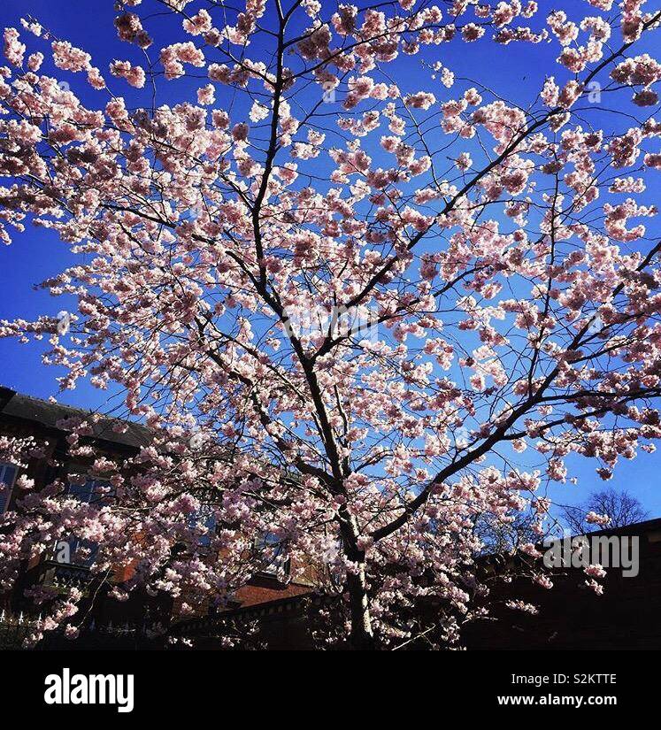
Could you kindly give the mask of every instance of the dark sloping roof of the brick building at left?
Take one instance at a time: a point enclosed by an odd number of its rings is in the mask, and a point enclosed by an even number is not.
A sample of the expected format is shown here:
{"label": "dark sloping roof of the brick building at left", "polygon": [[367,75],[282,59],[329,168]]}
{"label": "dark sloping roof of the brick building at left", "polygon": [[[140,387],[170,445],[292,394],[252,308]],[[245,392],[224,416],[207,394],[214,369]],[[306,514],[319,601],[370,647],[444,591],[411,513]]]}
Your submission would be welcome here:
{"label": "dark sloping roof of the brick building at left", "polygon": [[[71,418],[85,419],[94,413],[95,411],[85,411],[62,403],[51,403],[41,398],[26,396],[23,393],[17,393],[12,388],[0,386],[0,420],[18,420],[37,424],[42,428],[62,431],[63,429],[58,426],[58,421]],[[119,424],[126,429],[124,433],[120,433],[114,428]],[[90,420],[90,425],[94,431],[94,438],[119,446],[137,449],[151,440],[150,429],[135,421],[102,416],[96,423]]]}

